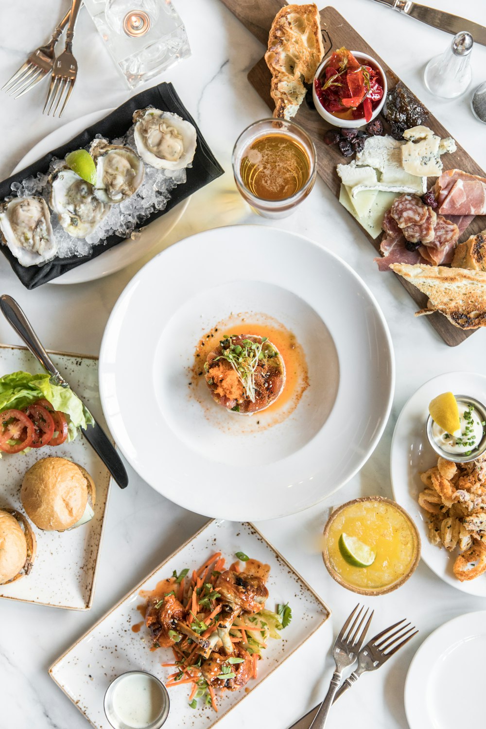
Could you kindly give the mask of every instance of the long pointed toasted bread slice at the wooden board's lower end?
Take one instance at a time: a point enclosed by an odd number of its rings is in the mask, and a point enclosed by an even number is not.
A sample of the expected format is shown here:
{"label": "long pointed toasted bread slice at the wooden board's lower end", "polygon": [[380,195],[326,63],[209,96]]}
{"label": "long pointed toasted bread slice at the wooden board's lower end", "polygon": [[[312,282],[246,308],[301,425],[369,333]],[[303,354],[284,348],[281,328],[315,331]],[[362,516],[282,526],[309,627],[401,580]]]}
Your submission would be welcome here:
{"label": "long pointed toasted bread slice at the wooden board's lower end", "polygon": [[390,268],[428,296],[428,308],[440,311],[460,329],[486,327],[486,273],[467,268],[392,263]]}

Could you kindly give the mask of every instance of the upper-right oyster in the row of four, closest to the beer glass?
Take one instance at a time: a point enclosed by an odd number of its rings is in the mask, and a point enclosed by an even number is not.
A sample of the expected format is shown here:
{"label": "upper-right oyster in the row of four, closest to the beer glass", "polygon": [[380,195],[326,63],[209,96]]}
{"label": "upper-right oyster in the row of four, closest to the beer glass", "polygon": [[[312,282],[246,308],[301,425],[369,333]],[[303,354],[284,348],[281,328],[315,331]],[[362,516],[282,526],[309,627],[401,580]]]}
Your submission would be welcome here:
{"label": "upper-right oyster in the row of four, closest to the beer glass", "polygon": [[135,112],[133,123],[137,152],[152,167],[181,170],[194,159],[196,130],[178,114],[149,107]]}

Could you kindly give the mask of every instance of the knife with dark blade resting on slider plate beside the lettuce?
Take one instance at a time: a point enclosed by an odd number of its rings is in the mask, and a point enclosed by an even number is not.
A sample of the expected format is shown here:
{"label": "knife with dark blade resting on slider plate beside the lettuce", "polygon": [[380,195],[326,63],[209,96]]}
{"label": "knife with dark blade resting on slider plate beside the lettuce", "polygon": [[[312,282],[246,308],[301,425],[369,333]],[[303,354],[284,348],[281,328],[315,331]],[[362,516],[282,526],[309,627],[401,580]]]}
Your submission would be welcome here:
{"label": "knife with dark blade resting on slider plate beside the lettuce", "polygon": [[[68,383],[60,375],[59,370],[55,367],[54,362],[52,362],[44,346],[42,346],[39,337],[31,327],[30,321],[28,321],[25,313],[23,313],[15,299],[12,299],[7,294],[0,296],[0,309],[20,339],[26,343],[28,349],[34,354],[34,357],[42,364],[44,370],[51,375],[55,384],[60,387],[68,387]],[[81,432],[91,448],[98,453],[98,456],[100,456],[118,486],[120,488],[126,488],[128,486],[128,475],[125,471],[125,466],[122,464],[122,460],[101,426],[95,421],[94,426],[88,426],[86,430],[82,428]]]}

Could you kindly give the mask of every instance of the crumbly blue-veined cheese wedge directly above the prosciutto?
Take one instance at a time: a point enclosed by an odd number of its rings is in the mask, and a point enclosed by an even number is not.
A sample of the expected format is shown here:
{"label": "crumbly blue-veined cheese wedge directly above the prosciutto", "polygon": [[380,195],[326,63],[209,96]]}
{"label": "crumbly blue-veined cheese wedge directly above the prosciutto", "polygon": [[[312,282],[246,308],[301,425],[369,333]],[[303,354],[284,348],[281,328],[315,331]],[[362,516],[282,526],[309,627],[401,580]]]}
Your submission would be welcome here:
{"label": "crumbly blue-veined cheese wedge directly above the prosciutto", "polygon": [[455,151],[455,141],[441,139],[428,127],[418,126],[404,131],[406,143],[401,147],[401,163],[411,175],[439,177],[442,173],[440,155]]}

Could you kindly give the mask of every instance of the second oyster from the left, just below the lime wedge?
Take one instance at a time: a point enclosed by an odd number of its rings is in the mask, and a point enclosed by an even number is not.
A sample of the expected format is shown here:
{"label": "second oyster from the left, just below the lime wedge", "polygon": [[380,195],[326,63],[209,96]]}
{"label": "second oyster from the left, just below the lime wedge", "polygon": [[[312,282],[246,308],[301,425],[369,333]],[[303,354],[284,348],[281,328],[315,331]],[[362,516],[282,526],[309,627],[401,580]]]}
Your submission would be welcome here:
{"label": "second oyster from the left, just below the lime wedge", "polygon": [[50,206],[73,238],[86,238],[93,233],[109,212],[110,206],[95,197],[93,185],[68,167],[55,171],[50,184]]}

